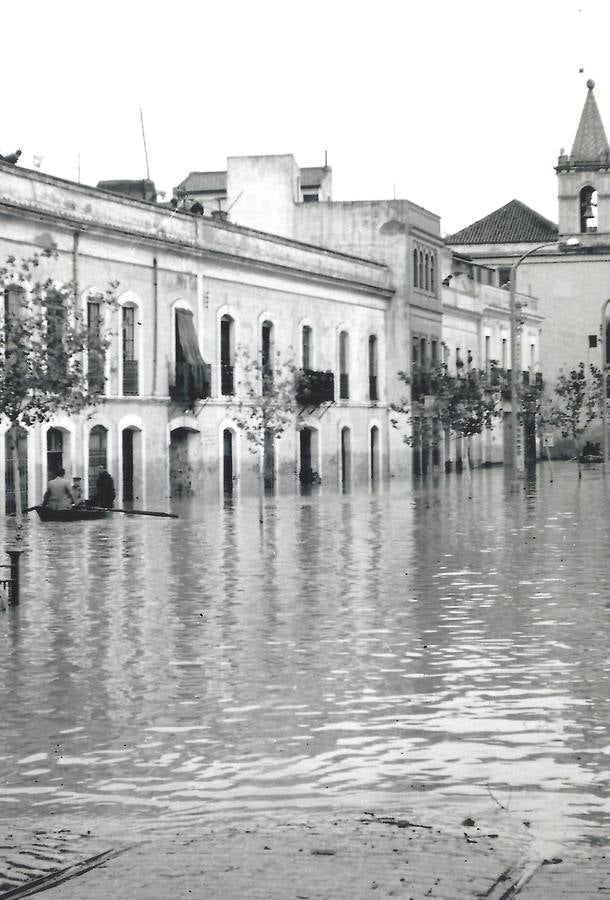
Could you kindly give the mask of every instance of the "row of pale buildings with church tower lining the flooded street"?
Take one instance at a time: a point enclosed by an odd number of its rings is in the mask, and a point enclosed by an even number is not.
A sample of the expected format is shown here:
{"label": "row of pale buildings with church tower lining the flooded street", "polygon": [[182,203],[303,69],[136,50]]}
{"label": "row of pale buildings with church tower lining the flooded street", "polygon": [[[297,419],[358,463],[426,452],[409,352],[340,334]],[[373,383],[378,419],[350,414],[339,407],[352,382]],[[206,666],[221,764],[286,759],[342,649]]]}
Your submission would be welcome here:
{"label": "row of pale buildings with church tower lining the flooded street", "polygon": [[[0,161],[0,258],[55,248],[54,277],[74,280],[84,312],[119,282],[103,402],[23,432],[24,502],[59,465],[86,484],[104,464],[118,502],[144,504],[256,491],[263,473],[279,490],[347,487],[459,462],[464,448],[450,452],[442,435],[407,446],[392,404],[408,398],[425,415],[426,373],[440,363],[510,368],[510,268],[541,244],[518,269],[523,377],[552,384],[564,365],[599,364],[610,148],[588,85],[556,169],[558,226],[513,200],[443,238],[439,217],[408,200],[333,200],[330,167],[290,155],[191,172],[167,204],[150,181],[92,188]],[[236,423],[244,349],[299,371],[293,426],[260,453]],[[504,460],[508,412],[471,440],[475,463]],[[10,511],[8,476],[2,492]]]}

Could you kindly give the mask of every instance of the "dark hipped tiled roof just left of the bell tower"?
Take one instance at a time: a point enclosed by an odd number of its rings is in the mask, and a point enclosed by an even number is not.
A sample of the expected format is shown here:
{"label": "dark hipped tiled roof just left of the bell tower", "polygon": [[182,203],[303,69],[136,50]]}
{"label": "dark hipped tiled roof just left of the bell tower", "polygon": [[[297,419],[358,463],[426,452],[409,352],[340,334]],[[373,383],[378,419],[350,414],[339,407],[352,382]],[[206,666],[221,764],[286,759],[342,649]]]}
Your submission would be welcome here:
{"label": "dark hipped tiled roof just left of the bell tower", "polygon": [[520,200],[511,200],[494,212],[445,238],[447,244],[522,244],[552,241],[557,226]]}

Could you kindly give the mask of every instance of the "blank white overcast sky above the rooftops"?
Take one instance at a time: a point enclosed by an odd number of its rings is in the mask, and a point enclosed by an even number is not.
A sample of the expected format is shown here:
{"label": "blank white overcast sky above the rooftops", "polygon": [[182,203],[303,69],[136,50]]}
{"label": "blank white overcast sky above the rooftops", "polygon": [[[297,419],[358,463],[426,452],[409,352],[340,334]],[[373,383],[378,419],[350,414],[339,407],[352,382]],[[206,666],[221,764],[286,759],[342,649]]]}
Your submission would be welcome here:
{"label": "blank white overcast sky above the rooftops", "polygon": [[406,197],[443,233],[513,197],[556,221],[587,78],[610,131],[609,26],[608,0],[5,3],[0,153],[142,178],[141,106],[168,196],[227,156],[327,150],[334,199]]}

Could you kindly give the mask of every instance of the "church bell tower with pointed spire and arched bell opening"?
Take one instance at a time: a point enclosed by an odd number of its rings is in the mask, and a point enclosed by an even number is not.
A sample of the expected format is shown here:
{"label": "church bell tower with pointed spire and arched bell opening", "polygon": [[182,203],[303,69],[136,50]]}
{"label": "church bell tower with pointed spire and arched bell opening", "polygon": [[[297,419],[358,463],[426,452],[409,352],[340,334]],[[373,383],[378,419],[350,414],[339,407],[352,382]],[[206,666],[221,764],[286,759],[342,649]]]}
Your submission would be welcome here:
{"label": "church bell tower with pointed spire and arched bell opening", "polygon": [[595,101],[595,82],[587,81],[587,97],[572,152],[560,151],[555,171],[559,181],[559,234],[610,234],[610,147]]}

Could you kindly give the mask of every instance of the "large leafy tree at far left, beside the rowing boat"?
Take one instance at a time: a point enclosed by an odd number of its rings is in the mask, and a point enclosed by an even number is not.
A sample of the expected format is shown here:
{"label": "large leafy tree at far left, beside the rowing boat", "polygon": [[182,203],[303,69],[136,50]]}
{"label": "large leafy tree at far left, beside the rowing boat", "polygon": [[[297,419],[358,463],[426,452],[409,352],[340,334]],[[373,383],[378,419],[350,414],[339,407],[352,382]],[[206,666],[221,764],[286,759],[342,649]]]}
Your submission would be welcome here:
{"label": "large leafy tree at far left, beside the rowing boat", "polygon": [[[0,266],[4,317],[0,329],[0,414],[8,420],[13,460],[16,518],[21,523],[19,427],[46,422],[58,412],[76,413],[97,403],[103,391],[100,361],[110,338],[92,327],[81,309],[74,284],[52,278],[55,251]],[[117,284],[91,295],[99,308],[114,305]],[[89,366],[85,369],[85,360]],[[93,365],[92,365],[93,364]],[[95,377],[89,378],[95,370]]]}

